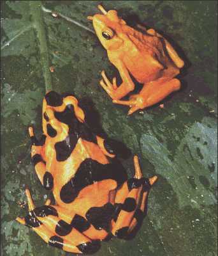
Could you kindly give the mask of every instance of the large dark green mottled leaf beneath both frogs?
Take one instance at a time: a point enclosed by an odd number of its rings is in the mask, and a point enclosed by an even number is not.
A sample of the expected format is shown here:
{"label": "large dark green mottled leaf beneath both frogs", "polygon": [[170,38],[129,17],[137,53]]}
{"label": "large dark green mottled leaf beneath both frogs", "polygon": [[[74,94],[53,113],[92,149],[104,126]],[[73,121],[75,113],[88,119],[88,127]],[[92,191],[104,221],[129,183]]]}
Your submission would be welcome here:
{"label": "large dark green mottled leaf beneath both frogs", "polygon": [[[99,3],[43,5],[92,29],[86,17],[98,12]],[[217,255],[217,1],[103,1],[106,10],[117,10],[131,26],[140,22],[163,32],[185,58],[183,90],[164,100],[164,108],[129,117],[127,108],[112,104],[99,86],[101,70],[110,77],[118,72],[93,33],[43,12],[41,1],[1,4],[3,255],[69,255],[15,221],[26,211],[18,205],[25,201],[26,185],[36,205],[50,196],[31,164],[27,127],[40,131],[41,100],[52,88],[89,102],[92,120],[138,154],[144,176],[159,177],[137,236],[102,243],[96,255]],[[132,157],[122,163],[131,177]]]}

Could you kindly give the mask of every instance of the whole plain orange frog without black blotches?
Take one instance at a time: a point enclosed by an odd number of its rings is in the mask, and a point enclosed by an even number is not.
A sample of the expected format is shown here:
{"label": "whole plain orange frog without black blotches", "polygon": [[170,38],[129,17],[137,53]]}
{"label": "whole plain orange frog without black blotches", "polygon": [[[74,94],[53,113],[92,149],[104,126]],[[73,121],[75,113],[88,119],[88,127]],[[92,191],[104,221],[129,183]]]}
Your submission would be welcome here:
{"label": "whole plain orange frog without black blotches", "polygon": [[[101,72],[103,79],[100,85],[113,99],[113,103],[130,106],[128,115],[131,115],[179,90],[180,81],[174,77],[179,74],[184,61],[170,43],[154,29],[142,28],[145,33],[141,33],[127,26],[115,10],[106,12],[100,5],[98,8],[103,14],[89,16],[88,19],[92,20],[108,59],[118,69],[122,79],[122,83],[117,86],[115,77],[111,83],[105,70]],[[129,100],[120,100],[134,90],[130,74],[143,84],[143,88]]]}

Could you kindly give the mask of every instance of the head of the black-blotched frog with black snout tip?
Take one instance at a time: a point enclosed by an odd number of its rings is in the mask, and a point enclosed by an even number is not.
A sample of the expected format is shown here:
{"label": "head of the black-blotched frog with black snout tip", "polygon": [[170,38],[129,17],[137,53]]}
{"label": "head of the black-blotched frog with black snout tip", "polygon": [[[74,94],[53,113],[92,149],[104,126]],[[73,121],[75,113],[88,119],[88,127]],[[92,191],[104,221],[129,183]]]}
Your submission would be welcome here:
{"label": "head of the black-blotched frog with black snout tip", "polygon": [[51,91],[43,100],[43,133],[50,137],[68,134],[71,122],[84,123],[84,111],[73,95],[60,95]]}

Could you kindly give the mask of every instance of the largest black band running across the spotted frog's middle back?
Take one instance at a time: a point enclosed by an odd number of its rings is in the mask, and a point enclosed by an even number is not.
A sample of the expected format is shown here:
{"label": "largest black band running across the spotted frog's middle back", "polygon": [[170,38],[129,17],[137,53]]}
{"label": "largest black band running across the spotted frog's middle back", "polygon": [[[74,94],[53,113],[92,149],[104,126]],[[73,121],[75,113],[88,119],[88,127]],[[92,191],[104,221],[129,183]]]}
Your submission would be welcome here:
{"label": "largest black band running across the spotted frog's middle back", "polygon": [[119,186],[125,181],[122,172],[113,164],[100,164],[91,158],[85,159],[78,168],[75,177],[66,183],[60,192],[61,200],[69,204],[75,200],[80,190],[100,180],[112,179]]}

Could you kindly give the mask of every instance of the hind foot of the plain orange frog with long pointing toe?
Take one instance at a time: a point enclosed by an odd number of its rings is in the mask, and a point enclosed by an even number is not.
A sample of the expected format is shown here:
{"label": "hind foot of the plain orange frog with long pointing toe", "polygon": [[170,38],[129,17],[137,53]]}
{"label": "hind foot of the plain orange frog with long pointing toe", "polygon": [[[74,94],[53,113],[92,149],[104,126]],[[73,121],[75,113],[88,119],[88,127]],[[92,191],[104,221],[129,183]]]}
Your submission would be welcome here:
{"label": "hind foot of the plain orange frog with long pointing toe", "polygon": [[113,100],[113,103],[130,106],[130,109],[127,115],[131,115],[138,109],[143,109],[146,106],[145,100],[139,94],[132,95],[129,98],[129,100]]}

